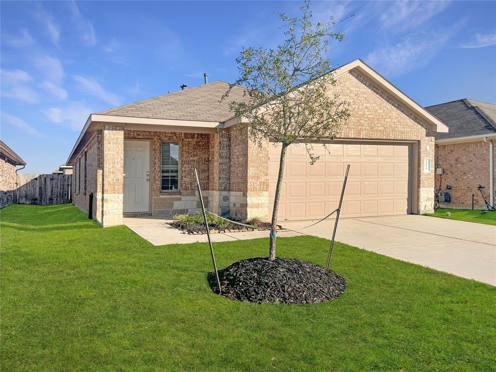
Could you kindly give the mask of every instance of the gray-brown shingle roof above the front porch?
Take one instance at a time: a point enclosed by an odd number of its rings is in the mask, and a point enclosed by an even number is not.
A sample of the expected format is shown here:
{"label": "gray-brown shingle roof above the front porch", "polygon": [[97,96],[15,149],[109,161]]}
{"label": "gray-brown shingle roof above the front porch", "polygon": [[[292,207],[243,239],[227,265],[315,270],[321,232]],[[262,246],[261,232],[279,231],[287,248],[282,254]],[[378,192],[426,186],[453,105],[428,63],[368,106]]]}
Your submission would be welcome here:
{"label": "gray-brown shingle roof above the front porch", "polygon": [[229,83],[218,80],[114,107],[95,114],[133,118],[225,122],[235,116],[229,109],[230,102],[248,100],[248,96],[244,96],[245,88],[234,86],[229,93],[229,97],[219,102],[228,89]]}

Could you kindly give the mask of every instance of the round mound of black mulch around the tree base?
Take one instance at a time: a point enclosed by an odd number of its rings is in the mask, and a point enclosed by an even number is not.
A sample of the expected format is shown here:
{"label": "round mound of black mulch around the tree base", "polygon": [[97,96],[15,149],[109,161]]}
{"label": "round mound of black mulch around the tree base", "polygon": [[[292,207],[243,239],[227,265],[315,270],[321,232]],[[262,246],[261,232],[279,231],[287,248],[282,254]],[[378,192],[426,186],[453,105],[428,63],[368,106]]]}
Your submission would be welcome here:
{"label": "round mound of black mulch around the tree base", "polygon": [[[257,257],[237,261],[219,270],[221,295],[254,304],[317,304],[346,289],[346,280],[332,270],[310,261]],[[214,272],[208,273],[213,292],[219,293]]]}

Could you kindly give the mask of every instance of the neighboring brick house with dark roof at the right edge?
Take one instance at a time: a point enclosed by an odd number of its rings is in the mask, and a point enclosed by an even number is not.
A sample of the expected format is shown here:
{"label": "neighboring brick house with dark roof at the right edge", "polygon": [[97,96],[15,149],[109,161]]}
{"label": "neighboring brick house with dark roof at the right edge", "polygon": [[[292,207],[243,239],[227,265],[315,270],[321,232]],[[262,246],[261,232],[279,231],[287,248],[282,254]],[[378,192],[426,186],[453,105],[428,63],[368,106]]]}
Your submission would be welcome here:
{"label": "neighboring brick house with dark roof at the right edge", "polygon": [[[496,142],[496,105],[462,99],[426,107],[449,127],[448,133],[435,135],[436,190],[444,190],[451,196],[449,202],[441,202],[446,208],[486,208],[477,189],[482,189],[487,201],[494,205],[494,163]],[[473,195],[473,196],[472,196]],[[472,204],[473,203],[473,204]]]}

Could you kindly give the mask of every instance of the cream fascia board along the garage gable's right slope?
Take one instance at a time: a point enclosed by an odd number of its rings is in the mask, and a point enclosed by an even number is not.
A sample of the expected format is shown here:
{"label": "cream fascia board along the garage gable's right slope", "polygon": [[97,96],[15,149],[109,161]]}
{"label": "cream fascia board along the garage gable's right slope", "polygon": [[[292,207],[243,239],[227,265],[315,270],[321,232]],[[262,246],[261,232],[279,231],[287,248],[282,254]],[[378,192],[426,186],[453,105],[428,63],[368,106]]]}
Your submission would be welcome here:
{"label": "cream fascia board along the garage gable's right slope", "polygon": [[428,124],[430,124],[433,128],[433,131],[436,133],[447,133],[448,127],[446,124],[437,119],[434,115],[432,115],[429,111],[420,106],[417,102],[408,97],[401,90],[396,88],[390,81],[382,77],[379,73],[377,73],[372,67],[367,65],[362,60],[355,60],[353,62],[347,63],[344,66],[341,66],[334,70],[334,78],[337,78],[339,75],[342,75],[345,72],[351,71],[353,69],[357,69],[362,74],[366,75],[370,79],[372,79],[380,88],[384,89],[386,92],[389,92],[393,95],[398,101],[403,103],[405,106],[410,108],[414,113],[416,113],[421,119],[424,119]]}

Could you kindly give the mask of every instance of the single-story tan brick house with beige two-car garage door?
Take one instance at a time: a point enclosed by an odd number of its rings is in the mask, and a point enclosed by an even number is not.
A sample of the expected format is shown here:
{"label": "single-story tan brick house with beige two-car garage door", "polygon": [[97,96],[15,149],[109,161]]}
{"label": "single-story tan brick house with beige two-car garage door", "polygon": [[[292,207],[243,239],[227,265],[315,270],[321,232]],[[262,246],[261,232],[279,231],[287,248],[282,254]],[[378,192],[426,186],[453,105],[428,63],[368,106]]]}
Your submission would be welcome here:
{"label": "single-story tan brick house with beige two-car garage door", "polygon": [[[432,212],[434,133],[447,127],[357,60],[335,71],[329,93],[350,103],[350,118],[327,152],[310,165],[304,145],[288,149],[281,219],[314,219],[337,207],[351,164],[344,216]],[[233,218],[268,218],[279,147],[248,140],[229,102],[247,99],[216,81],[90,115],[67,164],[73,202],[103,226],[123,215],[172,216],[199,210],[193,170],[209,210]],[[329,141],[327,141],[329,142]]]}

